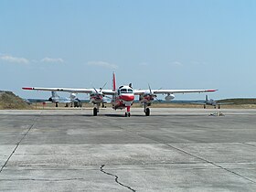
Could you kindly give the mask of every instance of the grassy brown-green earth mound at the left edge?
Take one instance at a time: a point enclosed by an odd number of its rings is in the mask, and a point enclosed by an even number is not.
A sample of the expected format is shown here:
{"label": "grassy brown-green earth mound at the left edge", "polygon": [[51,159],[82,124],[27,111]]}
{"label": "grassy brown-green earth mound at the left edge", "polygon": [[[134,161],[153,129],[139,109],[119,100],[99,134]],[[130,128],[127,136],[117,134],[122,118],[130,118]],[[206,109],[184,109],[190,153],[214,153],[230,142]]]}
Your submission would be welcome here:
{"label": "grassy brown-green earth mound at the left edge", "polygon": [[26,101],[11,91],[0,91],[0,110],[27,110],[32,109]]}

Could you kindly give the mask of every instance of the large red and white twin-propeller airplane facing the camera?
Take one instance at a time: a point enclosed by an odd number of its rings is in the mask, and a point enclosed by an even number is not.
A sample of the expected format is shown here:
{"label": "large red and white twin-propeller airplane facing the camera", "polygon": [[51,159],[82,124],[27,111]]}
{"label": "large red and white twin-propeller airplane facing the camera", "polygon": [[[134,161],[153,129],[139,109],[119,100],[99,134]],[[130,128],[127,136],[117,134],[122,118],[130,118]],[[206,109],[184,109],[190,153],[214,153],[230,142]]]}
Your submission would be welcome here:
{"label": "large red and white twin-propeller airplane facing the camera", "polygon": [[97,116],[99,112],[103,98],[106,95],[112,96],[112,109],[124,109],[126,108],[125,117],[130,117],[130,109],[133,105],[135,95],[139,95],[139,101],[144,105],[145,116],[150,115],[149,106],[156,98],[156,94],[165,94],[165,101],[171,101],[175,99],[174,93],[189,93],[189,92],[213,92],[217,90],[151,90],[150,86],[148,90],[133,90],[132,83],[129,85],[120,86],[116,88],[115,74],[112,76],[112,90],[105,89],[73,89],[73,88],[31,88],[25,87],[23,90],[29,91],[65,91],[71,93],[87,93],[90,94],[90,101],[93,103],[93,115]]}

